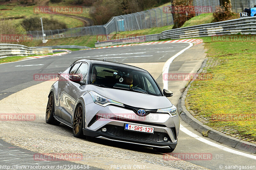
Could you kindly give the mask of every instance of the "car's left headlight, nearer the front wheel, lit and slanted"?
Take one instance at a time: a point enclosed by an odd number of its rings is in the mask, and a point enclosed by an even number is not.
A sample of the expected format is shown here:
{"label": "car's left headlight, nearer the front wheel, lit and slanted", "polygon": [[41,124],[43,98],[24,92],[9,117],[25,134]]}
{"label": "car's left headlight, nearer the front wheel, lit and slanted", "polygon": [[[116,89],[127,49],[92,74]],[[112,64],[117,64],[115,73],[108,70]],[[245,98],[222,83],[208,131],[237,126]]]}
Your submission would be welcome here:
{"label": "car's left headlight, nearer the front wheel, lit and slanted", "polygon": [[108,99],[104,96],[101,96],[100,94],[94,92],[94,91],[90,91],[89,92],[92,96],[92,100],[94,103],[100,105],[100,106],[103,106],[103,107],[106,107],[108,105],[117,105],[117,106],[122,106],[124,107],[124,104],[123,103],[119,103],[115,100],[111,100],[111,99]]}

